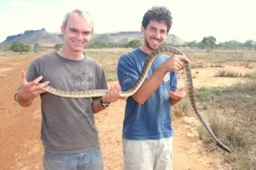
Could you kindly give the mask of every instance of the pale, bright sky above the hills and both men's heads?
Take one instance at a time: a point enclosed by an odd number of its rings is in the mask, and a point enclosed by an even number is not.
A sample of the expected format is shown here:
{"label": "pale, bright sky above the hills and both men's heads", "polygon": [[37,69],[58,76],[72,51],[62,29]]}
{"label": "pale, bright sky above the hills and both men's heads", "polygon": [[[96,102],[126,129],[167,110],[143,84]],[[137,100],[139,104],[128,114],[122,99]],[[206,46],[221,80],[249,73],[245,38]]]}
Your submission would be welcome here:
{"label": "pale, bright sky above the hills and both men's heads", "polygon": [[152,6],[169,8],[169,34],[186,42],[208,36],[217,42],[256,41],[254,0],[1,0],[0,42],[25,30],[60,32],[65,14],[75,8],[89,11],[97,34],[140,31],[142,17]]}

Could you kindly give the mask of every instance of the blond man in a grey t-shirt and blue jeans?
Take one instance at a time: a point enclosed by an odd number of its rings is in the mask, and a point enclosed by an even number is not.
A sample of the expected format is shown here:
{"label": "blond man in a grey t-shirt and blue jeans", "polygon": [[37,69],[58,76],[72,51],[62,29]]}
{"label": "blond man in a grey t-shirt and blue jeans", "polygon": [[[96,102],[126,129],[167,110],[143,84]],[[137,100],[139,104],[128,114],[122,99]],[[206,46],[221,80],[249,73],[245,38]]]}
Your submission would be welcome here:
{"label": "blond man in a grey t-shirt and blue jeans", "polygon": [[46,170],[100,170],[103,160],[94,113],[125,98],[120,97],[119,85],[110,87],[102,98],[57,97],[42,89],[46,85],[66,91],[108,89],[102,66],[82,53],[94,31],[90,14],[82,10],[67,13],[61,30],[65,37],[62,49],[31,61],[27,73],[22,71],[14,99],[22,107],[29,107],[35,97],[41,97]]}

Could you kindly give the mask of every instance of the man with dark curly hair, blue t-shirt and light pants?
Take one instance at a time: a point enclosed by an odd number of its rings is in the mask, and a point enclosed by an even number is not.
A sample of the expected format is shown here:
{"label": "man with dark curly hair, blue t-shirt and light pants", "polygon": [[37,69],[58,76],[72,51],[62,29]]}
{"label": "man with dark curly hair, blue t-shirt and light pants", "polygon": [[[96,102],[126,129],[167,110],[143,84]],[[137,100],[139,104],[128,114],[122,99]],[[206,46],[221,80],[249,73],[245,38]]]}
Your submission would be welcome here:
{"label": "man with dark curly hair, blue t-shirt and light pants", "polygon": [[[170,10],[164,6],[153,6],[144,14],[142,46],[118,61],[122,90],[134,85],[146,58],[165,42],[171,26]],[[177,71],[184,66],[182,61],[190,62],[182,55],[157,57],[141,88],[128,97],[122,130],[124,170],[173,169],[170,105],[186,96],[185,87],[178,89],[177,84]]]}

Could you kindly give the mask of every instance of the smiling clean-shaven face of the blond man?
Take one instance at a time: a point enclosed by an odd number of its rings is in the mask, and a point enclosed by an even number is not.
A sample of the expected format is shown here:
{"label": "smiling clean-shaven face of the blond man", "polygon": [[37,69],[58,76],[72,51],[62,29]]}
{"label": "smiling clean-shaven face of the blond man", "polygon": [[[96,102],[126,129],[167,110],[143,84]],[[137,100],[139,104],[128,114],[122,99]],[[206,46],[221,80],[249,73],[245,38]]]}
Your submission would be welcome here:
{"label": "smiling clean-shaven face of the blond man", "polygon": [[65,43],[74,52],[80,52],[86,47],[90,41],[91,30],[91,22],[81,20],[78,14],[71,14],[66,26],[62,26]]}

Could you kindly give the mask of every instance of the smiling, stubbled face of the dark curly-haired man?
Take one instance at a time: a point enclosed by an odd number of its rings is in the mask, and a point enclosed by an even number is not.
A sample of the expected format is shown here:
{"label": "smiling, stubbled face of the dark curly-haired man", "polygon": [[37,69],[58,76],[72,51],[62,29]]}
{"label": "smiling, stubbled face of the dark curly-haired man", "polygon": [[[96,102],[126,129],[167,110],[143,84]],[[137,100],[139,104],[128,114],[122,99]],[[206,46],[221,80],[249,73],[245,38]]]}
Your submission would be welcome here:
{"label": "smiling, stubbled face of the dark curly-haired man", "polygon": [[150,21],[145,28],[142,26],[142,34],[145,36],[144,44],[150,50],[157,49],[166,40],[167,26],[165,22]]}

